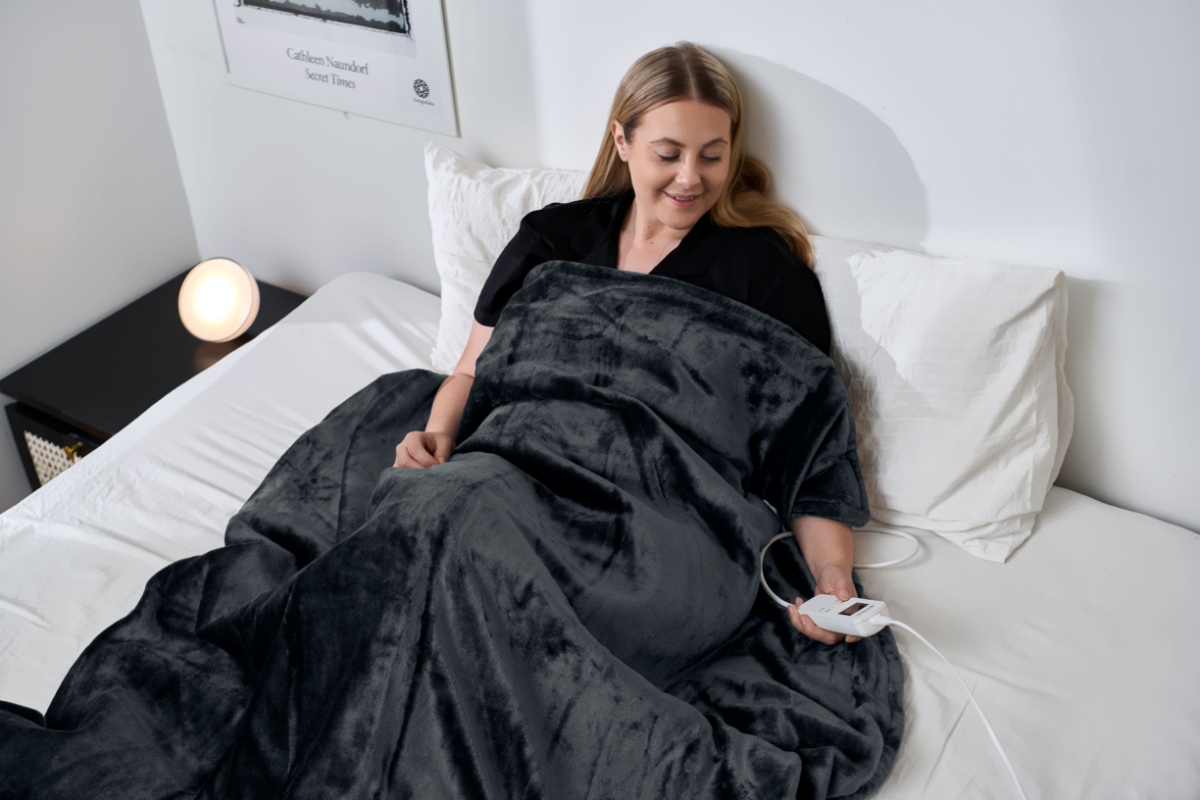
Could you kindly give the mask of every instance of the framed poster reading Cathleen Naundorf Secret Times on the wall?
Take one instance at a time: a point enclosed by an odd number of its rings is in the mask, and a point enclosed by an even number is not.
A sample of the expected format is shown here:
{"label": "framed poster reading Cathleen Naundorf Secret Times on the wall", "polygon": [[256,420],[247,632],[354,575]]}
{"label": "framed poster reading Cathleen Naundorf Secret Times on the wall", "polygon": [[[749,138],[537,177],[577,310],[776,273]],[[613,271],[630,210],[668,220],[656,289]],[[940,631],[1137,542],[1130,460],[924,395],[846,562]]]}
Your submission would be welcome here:
{"label": "framed poster reading Cathleen Naundorf Secret Times on the wall", "polygon": [[458,134],[440,0],[214,0],[226,80]]}

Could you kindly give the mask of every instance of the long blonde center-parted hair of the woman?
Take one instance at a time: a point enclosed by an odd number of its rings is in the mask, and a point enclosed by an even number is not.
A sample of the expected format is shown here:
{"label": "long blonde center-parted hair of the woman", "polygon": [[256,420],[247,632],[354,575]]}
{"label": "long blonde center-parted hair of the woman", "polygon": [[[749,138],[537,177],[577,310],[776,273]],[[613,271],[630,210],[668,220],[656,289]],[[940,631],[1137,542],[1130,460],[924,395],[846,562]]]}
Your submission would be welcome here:
{"label": "long blonde center-parted hair of the woman", "polygon": [[[613,120],[620,122],[631,139],[647,112],[680,100],[720,108],[732,122],[730,178],[710,211],[713,222],[722,228],[773,228],[804,264],[812,266],[812,246],[804,223],[791,209],[767,199],[770,170],[757,158],[745,155],[742,92],[730,71],[712,53],[691,42],[679,42],[640,58],[617,86],[608,125],[611,127]],[[606,127],[600,152],[583,187],[583,198],[612,197],[632,187],[629,164],[620,160]]]}

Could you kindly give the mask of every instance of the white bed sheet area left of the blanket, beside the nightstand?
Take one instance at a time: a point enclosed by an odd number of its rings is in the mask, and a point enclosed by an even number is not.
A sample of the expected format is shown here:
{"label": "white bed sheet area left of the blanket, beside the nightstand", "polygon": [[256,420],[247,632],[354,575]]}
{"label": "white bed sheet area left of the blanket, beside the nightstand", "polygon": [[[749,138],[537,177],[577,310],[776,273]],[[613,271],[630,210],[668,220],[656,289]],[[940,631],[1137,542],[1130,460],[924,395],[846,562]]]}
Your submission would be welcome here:
{"label": "white bed sheet area left of the blanket, beside the nightstand", "polygon": [[376,377],[430,368],[438,308],[344,275],[0,515],[0,699],[44,710],[150,576],[222,545],[301,433]]}

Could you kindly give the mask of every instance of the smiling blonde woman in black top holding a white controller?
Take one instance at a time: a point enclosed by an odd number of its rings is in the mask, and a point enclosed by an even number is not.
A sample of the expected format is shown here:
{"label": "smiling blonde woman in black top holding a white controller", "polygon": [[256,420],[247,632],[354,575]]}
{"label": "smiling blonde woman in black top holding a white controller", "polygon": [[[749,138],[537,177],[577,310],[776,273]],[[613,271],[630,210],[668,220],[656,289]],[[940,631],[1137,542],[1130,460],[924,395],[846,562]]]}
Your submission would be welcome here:
{"label": "smiling blonde woman in black top holding a white controller", "polygon": [[[545,261],[686,281],[779,319],[828,354],[808,236],[794,213],[763,194],[770,176],[743,152],[742,96],[725,66],[690,43],[648,53],[622,79],[610,118],[583,199],[528,215],[500,254],[462,357],[425,431],[396,446],[396,467],[424,469],[450,457],[475,360],[524,276]],[[803,517],[792,533],[817,593],[853,597],[850,527]],[[858,639],[817,627],[799,604],[797,599],[788,613],[805,636],[826,644]]]}

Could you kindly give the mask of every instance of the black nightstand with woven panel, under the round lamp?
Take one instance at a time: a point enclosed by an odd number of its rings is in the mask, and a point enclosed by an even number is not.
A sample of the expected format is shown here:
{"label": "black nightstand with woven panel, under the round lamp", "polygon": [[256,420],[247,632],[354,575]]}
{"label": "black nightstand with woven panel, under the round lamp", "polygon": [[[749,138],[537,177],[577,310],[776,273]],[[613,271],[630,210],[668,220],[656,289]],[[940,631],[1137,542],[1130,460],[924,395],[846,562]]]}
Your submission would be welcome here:
{"label": "black nightstand with woven panel, under the round lamp", "polygon": [[259,281],[258,317],[250,330],[232,342],[200,342],[179,321],[186,275],[0,379],[0,392],[17,401],[5,411],[35,489],[305,300]]}

